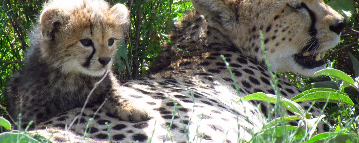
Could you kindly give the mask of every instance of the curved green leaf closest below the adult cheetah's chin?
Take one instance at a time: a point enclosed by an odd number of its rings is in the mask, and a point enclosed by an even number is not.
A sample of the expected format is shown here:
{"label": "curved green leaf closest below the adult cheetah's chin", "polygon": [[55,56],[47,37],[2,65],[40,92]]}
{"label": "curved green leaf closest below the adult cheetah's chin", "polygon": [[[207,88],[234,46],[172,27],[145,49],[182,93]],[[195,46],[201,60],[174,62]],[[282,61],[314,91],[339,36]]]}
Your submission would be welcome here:
{"label": "curved green leaf closest below the adult cheetah's chin", "polygon": [[328,75],[330,77],[335,77],[337,79],[343,80],[345,82],[348,82],[349,84],[354,85],[354,80],[349,75],[345,74],[343,71],[337,70],[337,69],[322,69],[320,71],[317,71],[314,74],[318,75]]}

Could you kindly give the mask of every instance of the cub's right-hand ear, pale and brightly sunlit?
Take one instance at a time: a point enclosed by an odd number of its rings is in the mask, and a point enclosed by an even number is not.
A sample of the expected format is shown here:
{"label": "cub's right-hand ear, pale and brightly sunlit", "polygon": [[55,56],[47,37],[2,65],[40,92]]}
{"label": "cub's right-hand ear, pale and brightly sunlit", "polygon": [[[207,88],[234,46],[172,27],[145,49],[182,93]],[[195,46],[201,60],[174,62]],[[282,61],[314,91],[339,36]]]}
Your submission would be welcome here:
{"label": "cub's right-hand ear, pale and brightly sunlit", "polygon": [[125,29],[129,25],[129,11],[123,4],[116,4],[110,9],[110,13],[115,16],[113,20],[116,20],[116,24],[119,24],[121,28]]}

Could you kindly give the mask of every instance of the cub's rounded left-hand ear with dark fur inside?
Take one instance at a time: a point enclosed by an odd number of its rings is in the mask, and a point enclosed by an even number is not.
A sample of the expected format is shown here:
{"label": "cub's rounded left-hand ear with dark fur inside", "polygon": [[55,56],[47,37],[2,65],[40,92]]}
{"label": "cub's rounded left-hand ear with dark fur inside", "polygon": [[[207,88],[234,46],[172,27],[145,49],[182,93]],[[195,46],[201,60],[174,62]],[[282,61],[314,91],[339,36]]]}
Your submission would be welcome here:
{"label": "cub's rounded left-hand ear with dark fur inside", "polygon": [[47,8],[40,16],[41,35],[44,40],[55,39],[61,25],[69,19],[70,14],[61,8]]}

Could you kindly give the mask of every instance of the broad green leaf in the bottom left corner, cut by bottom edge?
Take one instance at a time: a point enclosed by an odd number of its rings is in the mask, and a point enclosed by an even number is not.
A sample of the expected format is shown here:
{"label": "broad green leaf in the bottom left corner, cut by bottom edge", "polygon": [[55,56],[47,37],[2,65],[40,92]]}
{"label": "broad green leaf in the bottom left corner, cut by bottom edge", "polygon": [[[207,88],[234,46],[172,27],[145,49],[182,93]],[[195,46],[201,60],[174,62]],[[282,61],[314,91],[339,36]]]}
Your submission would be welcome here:
{"label": "broad green leaf in the bottom left corner, cut by bottom edge", "polygon": [[[19,140],[18,135],[20,135]],[[0,134],[0,143],[40,143],[38,140],[29,137],[24,133],[4,132]]]}

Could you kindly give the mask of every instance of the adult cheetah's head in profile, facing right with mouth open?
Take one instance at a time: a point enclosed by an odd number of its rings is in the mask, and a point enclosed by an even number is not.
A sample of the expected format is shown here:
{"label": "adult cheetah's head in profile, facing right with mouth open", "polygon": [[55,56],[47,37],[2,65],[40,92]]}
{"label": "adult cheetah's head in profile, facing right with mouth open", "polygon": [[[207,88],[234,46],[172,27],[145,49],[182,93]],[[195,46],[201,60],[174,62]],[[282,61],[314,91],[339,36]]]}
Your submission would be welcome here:
{"label": "adult cheetah's head in profile, facing right with mouth open", "polygon": [[344,18],[322,0],[192,0],[210,27],[263,61],[259,31],[274,71],[306,76],[325,68],[325,51],[339,42]]}

